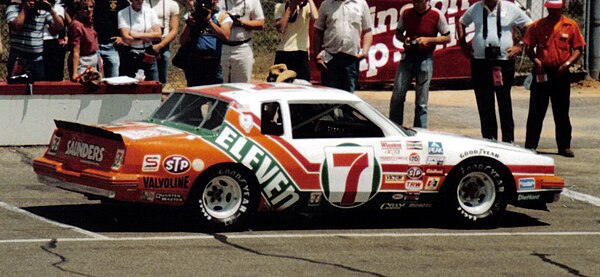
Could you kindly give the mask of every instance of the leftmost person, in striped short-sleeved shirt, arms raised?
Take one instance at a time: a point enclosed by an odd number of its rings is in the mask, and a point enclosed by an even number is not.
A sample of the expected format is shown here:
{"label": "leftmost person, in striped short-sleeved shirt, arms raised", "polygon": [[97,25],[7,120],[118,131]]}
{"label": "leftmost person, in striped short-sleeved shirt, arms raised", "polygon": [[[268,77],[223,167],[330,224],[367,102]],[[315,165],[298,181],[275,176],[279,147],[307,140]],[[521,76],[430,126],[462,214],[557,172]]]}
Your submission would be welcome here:
{"label": "leftmost person, in striped short-sleeved shirt, arms raised", "polygon": [[52,32],[62,30],[62,17],[47,0],[23,0],[7,7],[6,21],[10,28],[9,77],[29,72],[31,81],[44,80],[44,26]]}

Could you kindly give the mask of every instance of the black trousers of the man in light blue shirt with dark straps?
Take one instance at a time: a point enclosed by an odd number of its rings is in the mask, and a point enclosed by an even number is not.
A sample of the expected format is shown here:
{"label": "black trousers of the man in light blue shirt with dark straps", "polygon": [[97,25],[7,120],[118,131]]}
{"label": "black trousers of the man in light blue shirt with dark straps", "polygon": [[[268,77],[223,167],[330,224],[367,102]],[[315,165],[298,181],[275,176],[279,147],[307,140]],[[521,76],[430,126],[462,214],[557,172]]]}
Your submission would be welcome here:
{"label": "black trousers of the man in light blue shirt with dark straps", "polygon": [[[494,86],[493,68],[499,66],[502,70],[502,85]],[[512,116],[512,100],[510,88],[515,78],[514,60],[471,60],[471,75],[481,122],[481,135],[487,139],[498,139],[498,123],[496,122],[496,104],[502,129],[502,141],[515,140],[515,123]]]}

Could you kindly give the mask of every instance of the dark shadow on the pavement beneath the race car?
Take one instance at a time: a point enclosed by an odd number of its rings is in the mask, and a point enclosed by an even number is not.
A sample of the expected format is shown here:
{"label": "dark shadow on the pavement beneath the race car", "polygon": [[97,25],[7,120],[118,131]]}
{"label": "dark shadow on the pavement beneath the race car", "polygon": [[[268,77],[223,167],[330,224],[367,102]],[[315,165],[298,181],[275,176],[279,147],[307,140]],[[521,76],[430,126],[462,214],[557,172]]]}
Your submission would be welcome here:
{"label": "dark shadow on the pavement beneath the race car", "polygon": [[[198,232],[214,233],[186,222],[180,208],[135,204],[84,204],[28,207],[25,210],[44,218],[97,233]],[[449,222],[434,209],[398,212],[341,212],[302,214],[291,212],[259,213],[246,229],[274,230],[353,230],[353,229],[442,229],[488,230],[545,226],[545,222],[526,214],[507,211],[492,227],[471,227]]]}

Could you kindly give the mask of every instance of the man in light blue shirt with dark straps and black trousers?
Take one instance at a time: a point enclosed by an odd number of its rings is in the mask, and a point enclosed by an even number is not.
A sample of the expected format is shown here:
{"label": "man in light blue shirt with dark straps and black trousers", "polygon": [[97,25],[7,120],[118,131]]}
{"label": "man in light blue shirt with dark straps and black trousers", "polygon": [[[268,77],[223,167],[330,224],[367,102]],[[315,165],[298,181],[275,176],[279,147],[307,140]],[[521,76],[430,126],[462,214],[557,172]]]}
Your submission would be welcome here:
{"label": "man in light blue shirt with dark straps and black trousers", "polygon": [[[469,45],[465,29],[471,23],[475,25],[475,36]],[[498,139],[495,94],[502,141],[515,140],[510,89],[515,77],[514,59],[522,52],[522,46],[515,43],[513,32],[515,28],[525,29],[530,23],[531,19],[512,2],[483,0],[473,4],[457,24],[460,46],[465,56],[471,59],[471,77],[483,138]]]}

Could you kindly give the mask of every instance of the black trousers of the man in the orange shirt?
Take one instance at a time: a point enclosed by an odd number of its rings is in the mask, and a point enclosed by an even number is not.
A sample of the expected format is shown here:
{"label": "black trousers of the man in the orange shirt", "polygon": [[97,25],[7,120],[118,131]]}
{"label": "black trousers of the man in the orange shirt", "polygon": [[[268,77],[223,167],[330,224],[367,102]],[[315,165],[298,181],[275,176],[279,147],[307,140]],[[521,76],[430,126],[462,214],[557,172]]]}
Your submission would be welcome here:
{"label": "black trousers of the man in the orange shirt", "polygon": [[[571,96],[571,83],[569,74],[557,76],[557,67],[544,67],[548,74],[548,81],[536,82],[535,78],[531,84],[531,95],[529,98],[529,114],[527,115],[527,134],[525,136],[525,147],[536,149],[542,133],[542,124],[548,110],[548,104],[552,101],[552,115],[554,116],[555,136],[558,149],[571,148],[571,119],[569,118],[569,106]],[[535,76],[535,75],[534,75]]]}

